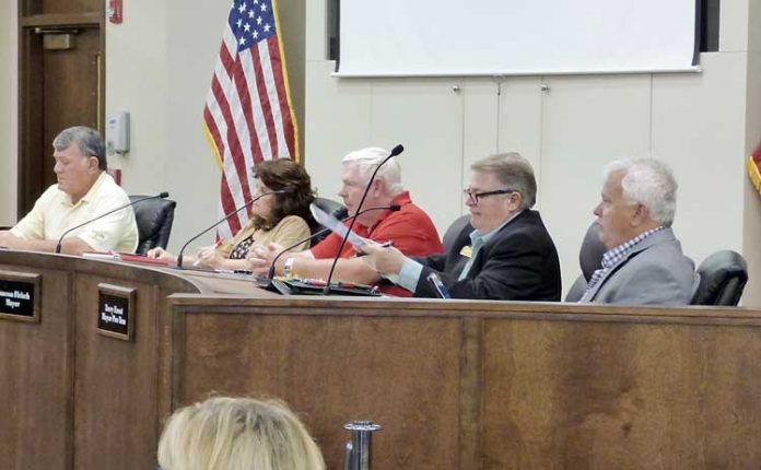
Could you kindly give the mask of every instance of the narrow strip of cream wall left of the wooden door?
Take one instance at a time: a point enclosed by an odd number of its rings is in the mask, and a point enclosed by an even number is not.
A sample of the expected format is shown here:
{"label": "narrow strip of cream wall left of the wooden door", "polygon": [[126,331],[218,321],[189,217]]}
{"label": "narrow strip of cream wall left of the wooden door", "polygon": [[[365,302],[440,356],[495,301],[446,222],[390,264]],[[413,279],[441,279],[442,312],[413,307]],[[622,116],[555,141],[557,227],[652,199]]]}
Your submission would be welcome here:
{"label": "narrow strip of cream wall left of the wooden door", "polygon": [[16,221],[19,106],[15,0],[0,0],[0,226]]}

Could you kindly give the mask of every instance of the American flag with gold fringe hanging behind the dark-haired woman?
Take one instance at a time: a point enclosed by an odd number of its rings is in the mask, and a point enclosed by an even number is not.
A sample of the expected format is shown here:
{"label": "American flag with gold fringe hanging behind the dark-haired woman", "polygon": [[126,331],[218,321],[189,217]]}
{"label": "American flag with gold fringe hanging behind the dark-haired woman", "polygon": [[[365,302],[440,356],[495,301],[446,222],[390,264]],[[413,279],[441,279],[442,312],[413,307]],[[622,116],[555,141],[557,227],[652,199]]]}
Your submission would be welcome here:
{"label": "American flag with gold fringe hanging behind the dark-haired woman", "polygon": [[[230,213],[251,197],[251,166],[265,160],[298,160],[276,0],[235,0],[203,109],[204,130],[222,167],[220,211]],[[220,225],[230,238],[247,211]]]}

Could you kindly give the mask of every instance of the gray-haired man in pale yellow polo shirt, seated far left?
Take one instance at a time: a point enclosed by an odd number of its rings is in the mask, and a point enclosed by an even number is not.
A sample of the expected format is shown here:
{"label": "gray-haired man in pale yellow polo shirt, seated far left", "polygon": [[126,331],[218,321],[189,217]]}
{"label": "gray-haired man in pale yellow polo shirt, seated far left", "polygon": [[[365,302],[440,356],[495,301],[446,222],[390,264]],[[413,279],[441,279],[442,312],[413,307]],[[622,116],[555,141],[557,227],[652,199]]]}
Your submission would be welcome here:
{"label": "gray-haired man in pale yellow polo shirt, seated far left", "polygon": [[[106,150],[96,130],[71,127],[54,139],[52,148],[58,184],[45,190],[13,228],[0,231],[0,246],[55,251],[67,230],[129,203],[127,193],[106,173]],[[126,208],[68,234],[61,252],[134,252],[137,246],[134,212]]]}

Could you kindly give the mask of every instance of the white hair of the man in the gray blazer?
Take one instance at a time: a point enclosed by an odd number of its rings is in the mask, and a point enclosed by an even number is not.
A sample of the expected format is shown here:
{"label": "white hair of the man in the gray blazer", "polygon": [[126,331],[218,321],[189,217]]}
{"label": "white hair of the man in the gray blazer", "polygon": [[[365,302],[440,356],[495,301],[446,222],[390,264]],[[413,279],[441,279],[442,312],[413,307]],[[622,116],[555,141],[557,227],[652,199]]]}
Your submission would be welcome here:
{"label": "white hair of the man in the gray blazer", "polygon": [[623,173],[621,190],[624,200],[645,205],[653,221],[671,226],[677,211],[678,187],[671,168],[656,158],[623,158],[605,167],[605,179],[618,172]]}

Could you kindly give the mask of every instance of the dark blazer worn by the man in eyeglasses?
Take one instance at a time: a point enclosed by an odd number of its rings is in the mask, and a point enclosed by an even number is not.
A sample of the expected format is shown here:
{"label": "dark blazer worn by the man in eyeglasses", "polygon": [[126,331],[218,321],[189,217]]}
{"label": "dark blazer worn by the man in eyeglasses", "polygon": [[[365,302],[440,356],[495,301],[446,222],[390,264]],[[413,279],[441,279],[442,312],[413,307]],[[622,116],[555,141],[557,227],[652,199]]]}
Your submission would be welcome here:
{"label": "dark blazer worn by the man in eyeglasses", "polygon": [[558,251],[538,212],[525,210],[502,227],[481,247],[466,279],[457,281],[468,262],[460,250],[470,245],[472,231],[467,224],[446,254],[415,258],[423,265],[415,297],[436,297],[428,281],[435,271],[455,298],[560,301]]}

